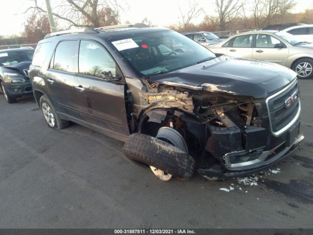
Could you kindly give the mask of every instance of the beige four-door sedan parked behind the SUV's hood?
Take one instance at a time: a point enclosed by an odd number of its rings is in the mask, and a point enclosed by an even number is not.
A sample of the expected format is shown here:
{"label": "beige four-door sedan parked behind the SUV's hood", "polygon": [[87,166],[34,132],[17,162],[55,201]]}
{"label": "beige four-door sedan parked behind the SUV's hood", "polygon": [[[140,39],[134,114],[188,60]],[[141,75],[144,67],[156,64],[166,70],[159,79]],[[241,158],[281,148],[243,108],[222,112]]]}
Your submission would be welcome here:
{"label": "beige four-door sedan parked behind the SUV's hood", "polygon": [[209,48],[218,54],[286,66],[295,71],[300,79],[313,78],[313,44],[299,42],[286,32],[241,33]]}

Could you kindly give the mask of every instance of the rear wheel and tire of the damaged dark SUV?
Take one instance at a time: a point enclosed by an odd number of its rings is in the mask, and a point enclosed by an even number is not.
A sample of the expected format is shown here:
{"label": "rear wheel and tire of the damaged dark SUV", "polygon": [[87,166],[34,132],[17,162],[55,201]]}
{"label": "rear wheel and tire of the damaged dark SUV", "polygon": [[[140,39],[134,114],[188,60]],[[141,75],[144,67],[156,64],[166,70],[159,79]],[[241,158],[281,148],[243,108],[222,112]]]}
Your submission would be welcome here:
{"label": "rear wheel and tire of the damaged dark SUV", "polygon": [[61,130],[69,125],[69,121],[59,118],[53,107],[52,102],[48,99],[47,96],[41,96],[39,104],[40,109],[45,117],[45,121],[47,122],[49,127]]}

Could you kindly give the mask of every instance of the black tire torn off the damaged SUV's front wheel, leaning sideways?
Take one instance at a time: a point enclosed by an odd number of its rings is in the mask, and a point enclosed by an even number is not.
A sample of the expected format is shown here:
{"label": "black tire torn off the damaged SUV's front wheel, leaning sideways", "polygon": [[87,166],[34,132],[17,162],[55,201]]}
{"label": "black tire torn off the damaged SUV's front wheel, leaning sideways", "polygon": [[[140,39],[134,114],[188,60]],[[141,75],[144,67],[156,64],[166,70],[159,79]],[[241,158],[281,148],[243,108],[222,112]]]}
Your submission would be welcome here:
{"label": "black tire torn off the damaged SUV's front wheel, leaning sideways", "polygon": [[179,148],[144,134],[132,134],[123,148],[131,160],[152,165],[179,179],[188,180],[195,170],[195,160]]}

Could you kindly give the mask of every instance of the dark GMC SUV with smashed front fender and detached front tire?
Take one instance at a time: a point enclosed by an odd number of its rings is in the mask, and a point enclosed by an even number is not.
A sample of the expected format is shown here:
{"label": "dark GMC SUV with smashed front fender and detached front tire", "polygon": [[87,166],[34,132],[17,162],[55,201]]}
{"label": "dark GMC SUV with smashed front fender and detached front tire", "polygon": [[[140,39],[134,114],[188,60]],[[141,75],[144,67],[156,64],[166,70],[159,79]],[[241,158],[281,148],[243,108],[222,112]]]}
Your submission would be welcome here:
{"label": "dark GMC SUV with smashed front fender and detached front tire", "polygon": [[125,141],[161,180],[252,174],[291,154],[304,138],[296,75],[142,24],[48,34],[29,71],[49,127]]}

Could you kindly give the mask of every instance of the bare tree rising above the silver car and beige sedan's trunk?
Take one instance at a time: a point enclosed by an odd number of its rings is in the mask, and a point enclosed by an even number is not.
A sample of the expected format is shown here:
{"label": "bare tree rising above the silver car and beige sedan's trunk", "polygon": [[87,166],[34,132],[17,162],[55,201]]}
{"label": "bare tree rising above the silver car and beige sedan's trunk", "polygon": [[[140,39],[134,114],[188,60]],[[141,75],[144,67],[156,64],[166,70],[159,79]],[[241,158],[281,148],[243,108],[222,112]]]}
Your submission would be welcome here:
{"label": "bare tree rising above the silver car and beige sedan's trunk", "polygon": [[243,10],[245,3],[242,0],[215,0],[218,13],[218,24],[221,31],[225,31],[226,25],[234,21]]}

